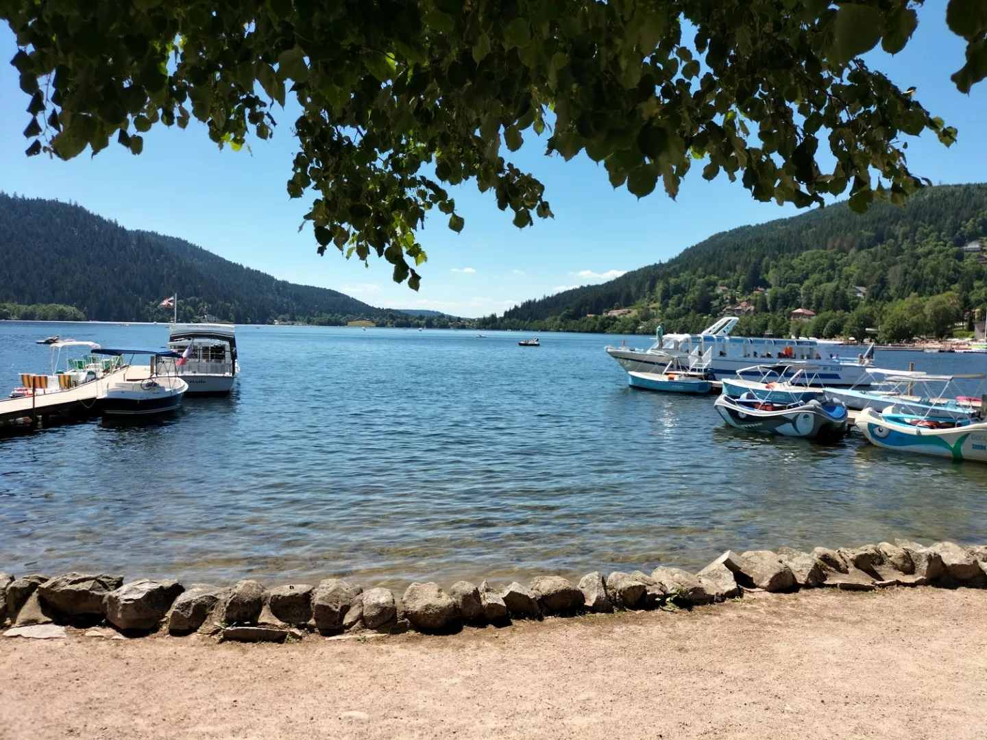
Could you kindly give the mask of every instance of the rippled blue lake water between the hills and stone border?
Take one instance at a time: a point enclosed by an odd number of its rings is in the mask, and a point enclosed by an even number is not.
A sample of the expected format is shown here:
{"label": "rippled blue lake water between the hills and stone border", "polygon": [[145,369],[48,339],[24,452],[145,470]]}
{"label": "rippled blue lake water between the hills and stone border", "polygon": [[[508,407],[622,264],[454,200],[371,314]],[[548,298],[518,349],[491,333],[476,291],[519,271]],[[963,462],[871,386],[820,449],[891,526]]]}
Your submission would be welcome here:
{"label": "rippled blue lake water between the hills and stone border", "polygon": [[[160,345],[164,326],[0,322],[0,393],[35,339]],[[987,466],[723,425],[627,387],[620,336],[253,326],[228,399],[143,425],[0,439],[0,570],[403,588],[674,564],[731,548],[983,542]],[[642,343],[636,337],[629,343]],[[878,352],[982,372],[987,355]],[[968,389],[972,392],[974,389]]]}

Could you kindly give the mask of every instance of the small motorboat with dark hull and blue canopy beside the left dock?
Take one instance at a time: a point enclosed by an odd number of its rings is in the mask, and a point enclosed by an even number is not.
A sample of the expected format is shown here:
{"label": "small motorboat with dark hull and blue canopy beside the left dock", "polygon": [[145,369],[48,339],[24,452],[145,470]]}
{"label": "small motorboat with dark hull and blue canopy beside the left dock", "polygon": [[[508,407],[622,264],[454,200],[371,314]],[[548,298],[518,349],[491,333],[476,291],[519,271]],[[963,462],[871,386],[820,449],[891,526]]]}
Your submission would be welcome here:
{"label": "small motorboat with dark hull and blue canopy beside the left dock", "polygon": [[114,357],[128,355],[131,360],[137,355],[150,358],[147,366],[125,363],[123,367],[126,372],[123,377],[101,389],[97,401],[104,415],[147,416],[174,411],[182,406],[189,384],[177,375],[159,373],[159,370],[168,369],[168,365],[162,360],[181,358],[182,355],[178,352],[165,347],[100,347],[93,351]]}

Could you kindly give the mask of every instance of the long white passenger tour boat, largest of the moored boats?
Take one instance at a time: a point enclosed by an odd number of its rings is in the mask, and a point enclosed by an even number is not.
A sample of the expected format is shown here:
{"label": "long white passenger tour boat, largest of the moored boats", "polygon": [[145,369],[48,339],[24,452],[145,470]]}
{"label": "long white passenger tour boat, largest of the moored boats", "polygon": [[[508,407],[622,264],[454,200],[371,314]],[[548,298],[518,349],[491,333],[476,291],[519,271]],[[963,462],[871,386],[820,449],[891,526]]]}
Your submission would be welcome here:
{"label": "long white passenger tour boat, largest of the moored boats", "polygon": [[770,337],[732,336],[737,318],[726,316],[698,334],[665,334],[646,349],[626,346],[605,347],[607,354],[628,372],[656,372],[669,360],[677,359],[691,370],[711,372],[715,380],[748,377],[756,380],[760,373],[750,370],[759,360],[778,365],[792,365],[783,372],[791,379],[798,363],[813,362],[817,369],[813,385],[833,387],[863,387],[871,382],[867,368],[873,364],[873,344],[856,358],[839,356],[838,341],[799,337],[774,339]]}

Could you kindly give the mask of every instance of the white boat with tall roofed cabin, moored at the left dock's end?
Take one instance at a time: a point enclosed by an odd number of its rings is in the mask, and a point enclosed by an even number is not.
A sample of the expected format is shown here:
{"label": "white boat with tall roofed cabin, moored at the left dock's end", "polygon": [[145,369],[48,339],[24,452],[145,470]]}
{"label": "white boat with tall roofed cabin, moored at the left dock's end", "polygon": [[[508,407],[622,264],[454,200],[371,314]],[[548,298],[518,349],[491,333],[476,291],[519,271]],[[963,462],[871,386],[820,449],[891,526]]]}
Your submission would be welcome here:
{"label": "white boat with tall roofed cabin, moored at the left dock's end", "polygon": [[174,325],[168,348],[181,355],[176,360],[165,360],[169,372],[189,384],[190,396],[228,394],[240,374],[236,328],[232,325]]}

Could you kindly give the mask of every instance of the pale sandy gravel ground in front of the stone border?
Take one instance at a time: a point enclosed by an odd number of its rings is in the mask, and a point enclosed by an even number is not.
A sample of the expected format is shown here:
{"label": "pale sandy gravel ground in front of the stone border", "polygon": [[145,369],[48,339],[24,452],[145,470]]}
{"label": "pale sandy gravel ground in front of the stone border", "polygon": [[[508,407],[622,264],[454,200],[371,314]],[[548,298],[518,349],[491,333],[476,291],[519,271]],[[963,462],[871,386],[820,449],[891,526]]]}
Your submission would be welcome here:
{"label": "pale sandy gravel ground in front of the stone border", "polygon": [[748,596],[443,637],[0,638],[0,738],[982,738],[987,592]]}

